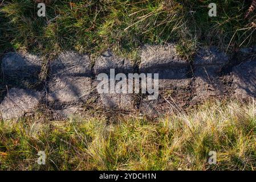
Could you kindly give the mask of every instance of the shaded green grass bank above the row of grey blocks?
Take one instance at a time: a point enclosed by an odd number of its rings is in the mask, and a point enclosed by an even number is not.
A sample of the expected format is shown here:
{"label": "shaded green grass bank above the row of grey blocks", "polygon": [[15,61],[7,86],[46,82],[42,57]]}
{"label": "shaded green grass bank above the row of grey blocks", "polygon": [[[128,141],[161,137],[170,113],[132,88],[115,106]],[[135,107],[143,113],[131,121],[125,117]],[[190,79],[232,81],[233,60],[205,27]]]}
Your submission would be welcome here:
{"label": "shaded green grass bank above the row of grey blocks", "polygon": [[14,48],[55,55],[73,49],[97,55],[110,47],[136,60],[144,44],[176,42],[186,57],[198,46],[233,51],[255,44],[256,15],[244,18],[250,1],[216,0],[217,17],[212,18],[208,0],[47,2],[45,18],[37,16],[35,1],[2,2],[1,51]]}

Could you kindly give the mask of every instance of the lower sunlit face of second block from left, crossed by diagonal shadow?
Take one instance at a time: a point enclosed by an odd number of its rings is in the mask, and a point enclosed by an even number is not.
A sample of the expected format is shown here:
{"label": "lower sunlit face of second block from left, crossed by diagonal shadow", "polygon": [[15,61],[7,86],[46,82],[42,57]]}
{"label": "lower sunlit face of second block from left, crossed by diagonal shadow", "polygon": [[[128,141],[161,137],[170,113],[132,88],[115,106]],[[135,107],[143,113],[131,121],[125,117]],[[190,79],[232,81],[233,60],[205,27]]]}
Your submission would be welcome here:
{"label": "lower sunlit face of second block from left, crossed by diagonal shadow", "polygon": [[89,77],[54,77],[48,82],[47,101],[55,107],[86,102],[92,92]]}

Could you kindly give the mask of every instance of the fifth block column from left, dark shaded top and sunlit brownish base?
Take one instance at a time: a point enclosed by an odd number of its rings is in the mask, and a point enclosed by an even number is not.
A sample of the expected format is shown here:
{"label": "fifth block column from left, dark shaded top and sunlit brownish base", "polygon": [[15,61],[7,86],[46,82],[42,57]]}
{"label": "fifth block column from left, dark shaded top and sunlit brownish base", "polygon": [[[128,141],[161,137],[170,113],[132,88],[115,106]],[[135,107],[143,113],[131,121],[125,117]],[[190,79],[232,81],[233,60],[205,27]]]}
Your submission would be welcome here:
{"label": "fifth block column from left, dark shaded top and sunlit brownish base", "polygon": [[224,94],[224,84],[219,76],[222,68],[229,63],[230,57],[224,52],[212,47],[201,49],[194,58],[193,74],[196,80],[193,83],[196,95],[193,102],[204,101],[209,97],[218,97]]}

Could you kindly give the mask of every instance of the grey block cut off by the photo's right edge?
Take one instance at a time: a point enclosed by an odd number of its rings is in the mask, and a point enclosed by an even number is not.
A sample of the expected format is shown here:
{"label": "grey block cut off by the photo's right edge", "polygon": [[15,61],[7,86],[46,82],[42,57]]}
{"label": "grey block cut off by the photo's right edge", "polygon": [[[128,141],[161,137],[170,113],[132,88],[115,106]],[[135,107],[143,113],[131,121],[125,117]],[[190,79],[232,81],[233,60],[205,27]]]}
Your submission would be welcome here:
{"label": "grey block cut off by the photo's right edge", "polygon": [[233,83],[238,98],[256,97],[256,60],[234,67]]}

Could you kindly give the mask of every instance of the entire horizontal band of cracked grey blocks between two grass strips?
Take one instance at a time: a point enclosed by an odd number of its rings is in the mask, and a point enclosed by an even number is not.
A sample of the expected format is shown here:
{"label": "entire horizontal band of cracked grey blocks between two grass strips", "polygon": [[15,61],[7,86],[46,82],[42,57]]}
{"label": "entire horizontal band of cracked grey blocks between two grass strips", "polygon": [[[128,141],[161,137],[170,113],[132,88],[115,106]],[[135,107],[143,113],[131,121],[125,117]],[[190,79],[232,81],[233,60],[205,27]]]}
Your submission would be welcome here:
{"label": "entire horizontal band of cracked grey blocks between two grass strips", "polygon": [[[48,64],[43,85],[28,89],[23,82],[34,83],[39,77],[42,60],[27,53],[6,53],[1,60],[0,119],[17,119],[46,108],[55,120],[83,114],[86,108],[115,111],[139,111],[155,117],[180,111],[209,98],[256,97],[256,60],[247,59],[238,51],[236,58],[216,48],[201,48],[190,63],[177,53],[174,44],[144,46],[138,66],[128,59],[106,51],[95,60],[90,56],[68,51]],[[243,59],[241,59],[241,57]],[[149,93],[105,93],[96,90],[99,73],[158,73],[159,96],[149,100]],[[2,75],[1,75],[2,76]],[[14,78],[9,81],[9,78]],[[155,78],[155,77],[154,77]],[[7,79],[7,81],[5,81]],[[15,80],[22,84],[14,84]]]}

